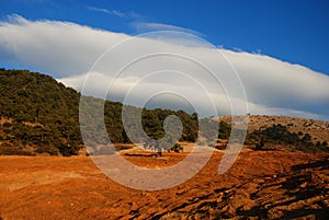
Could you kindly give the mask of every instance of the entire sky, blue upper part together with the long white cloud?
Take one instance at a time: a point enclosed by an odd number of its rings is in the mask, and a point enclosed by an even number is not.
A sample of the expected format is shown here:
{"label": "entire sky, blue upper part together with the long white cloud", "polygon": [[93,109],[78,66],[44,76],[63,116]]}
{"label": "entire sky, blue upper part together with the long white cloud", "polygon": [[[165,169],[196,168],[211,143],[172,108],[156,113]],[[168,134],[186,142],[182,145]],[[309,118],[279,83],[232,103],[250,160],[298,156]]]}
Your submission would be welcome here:
{"label": "entire sky, blue upper part together with the long white cloud", "polygon": [[[329,120],[328,1],[0,3],[2,67],[47,73],[78,91],[86,89],[88,93],[82,94],[100,97],[107,95],[109,84],[113,84],[112,96],[106,97],[120,102],[135,88],[127,104],[137,106],[154,99],[147,107],[189,111],[194,103],[194,109],[201,108],[204,116],[248,112]],[[132,37],[152,31],[172,31],[172,35],[158,32],[160,35],[146,38]],[[103,57],[107,60],[99,60],[107,48],[112,48]],[[147,63],[139,60],[135,69],[116,74],[117,67],[155,53],[171,57],[154,57]],[[173,55],[202,61],[213,76]],[[214,78],[222,83],[216,84]],[[91,80],[86,84],[86,79]],[[195,81],[203,88],[196,89]],[[202,96],[204,88],[208,91]],[[185,100],[172,93],[150,97],[164,90],[182,93]],[[207,94],[212,97],[208,102]],[[212,102],[218,114],[212,112]]]}

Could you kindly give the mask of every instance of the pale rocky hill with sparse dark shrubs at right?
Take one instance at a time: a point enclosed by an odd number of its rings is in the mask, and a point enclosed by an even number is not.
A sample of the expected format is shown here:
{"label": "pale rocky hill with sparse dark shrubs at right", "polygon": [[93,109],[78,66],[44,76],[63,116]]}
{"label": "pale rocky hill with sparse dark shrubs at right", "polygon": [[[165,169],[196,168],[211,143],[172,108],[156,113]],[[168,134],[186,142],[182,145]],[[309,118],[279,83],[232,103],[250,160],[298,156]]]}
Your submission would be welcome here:
{"label": "pale rocky hill with sparse dark shrubs at right", "polygon": [[[230,124],[230,116],[217,120]],[[329,151],[329,123],[288,116],[249,116],[246,144],[271,149]]]}

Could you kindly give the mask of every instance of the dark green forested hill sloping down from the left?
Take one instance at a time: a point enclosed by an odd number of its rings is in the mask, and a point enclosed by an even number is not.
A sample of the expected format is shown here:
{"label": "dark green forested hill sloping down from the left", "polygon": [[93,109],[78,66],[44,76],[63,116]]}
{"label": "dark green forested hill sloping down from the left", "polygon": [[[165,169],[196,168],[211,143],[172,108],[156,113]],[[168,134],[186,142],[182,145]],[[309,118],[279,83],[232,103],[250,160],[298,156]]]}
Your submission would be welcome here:
{"label": "dark green forested hill sloping down from the left", "polygon": [[[0,154],[77,154],[83,148],[79,102],[77,91],[49,76],[1,68]],[[105,126],[112,142],[129,142],[121,112],[121,103],[104,103]],[[143,109],[145,131],[155,139],[161,138],[164,134],[162,123],[168,115],[181,118],[184,126],[182,141],[195,140],[197,118],[183,111]]]}

